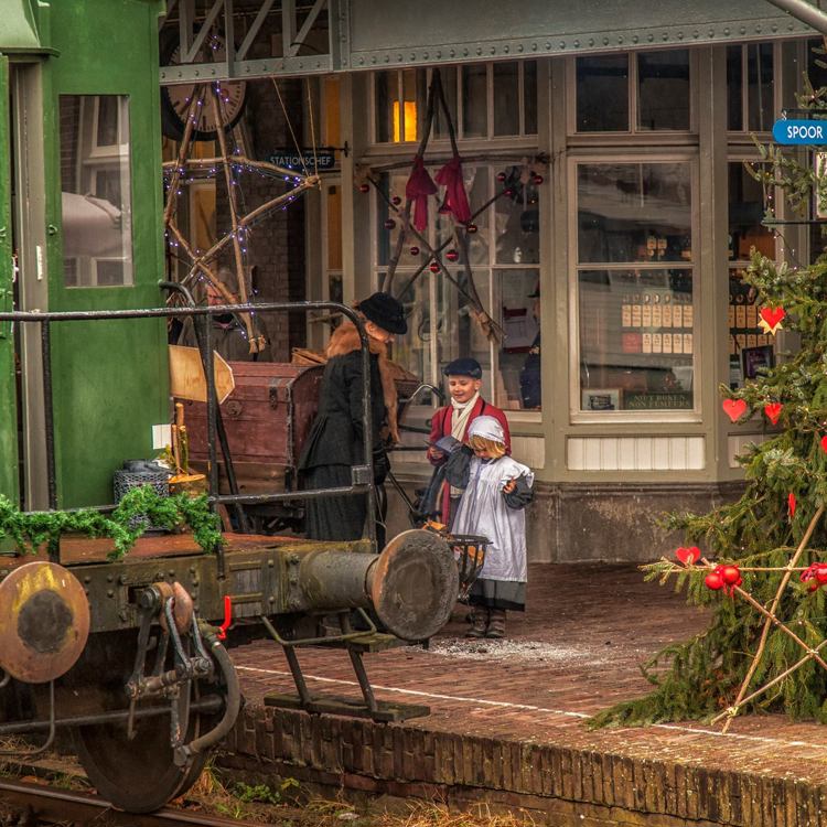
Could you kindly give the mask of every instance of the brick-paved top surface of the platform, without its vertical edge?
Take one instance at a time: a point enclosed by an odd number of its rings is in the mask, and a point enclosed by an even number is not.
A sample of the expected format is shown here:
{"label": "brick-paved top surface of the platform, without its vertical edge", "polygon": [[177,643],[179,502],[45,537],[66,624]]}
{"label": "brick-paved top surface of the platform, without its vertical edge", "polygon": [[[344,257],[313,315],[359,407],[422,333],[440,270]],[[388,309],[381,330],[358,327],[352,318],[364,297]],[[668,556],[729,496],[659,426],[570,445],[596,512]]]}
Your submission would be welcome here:
{"label": "brick-paved top surface of the platform, without its vertical edge", "polygon": [[[827,784],[827,742],[815,723],[740,718],[724,737],[696,723],[584,726],[591,713],[646,691],[637,666],[647,655],[702,627],[702,612],[669,587],[645,583],[630,566],[537,565],[528,595],[525,615],[509,613],[506,641],[465,641],[464,609],[458,606],[429,651],[409,646],[366,656],[377,697],[429,705],[429,717],[405,726],[430,732]],[[267,691],[292,689],[273,644],[239,647],[234,657],[253,705]],[[311,691],[358,694],[345,653],[304,649],[300,657]]]}

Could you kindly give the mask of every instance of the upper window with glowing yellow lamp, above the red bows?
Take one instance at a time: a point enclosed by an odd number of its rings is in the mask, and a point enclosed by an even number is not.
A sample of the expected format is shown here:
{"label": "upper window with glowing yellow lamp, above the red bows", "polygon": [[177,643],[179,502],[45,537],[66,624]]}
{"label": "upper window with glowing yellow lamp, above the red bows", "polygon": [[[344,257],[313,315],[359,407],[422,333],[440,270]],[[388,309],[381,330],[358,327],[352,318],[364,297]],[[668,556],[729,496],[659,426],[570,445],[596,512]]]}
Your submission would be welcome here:
{"label": "upper window with glowing yellow lamp, above the red bows", "polygon": [[[472,63],[440,67],[442,89],[460,139],[537,133],[537,64],[535,61]],[[375,140],[399,143],[420,140],[426,118],[426,69],[391,69],[374,75]],[[441,107],[433,114],[433,138],[448,138]]]}

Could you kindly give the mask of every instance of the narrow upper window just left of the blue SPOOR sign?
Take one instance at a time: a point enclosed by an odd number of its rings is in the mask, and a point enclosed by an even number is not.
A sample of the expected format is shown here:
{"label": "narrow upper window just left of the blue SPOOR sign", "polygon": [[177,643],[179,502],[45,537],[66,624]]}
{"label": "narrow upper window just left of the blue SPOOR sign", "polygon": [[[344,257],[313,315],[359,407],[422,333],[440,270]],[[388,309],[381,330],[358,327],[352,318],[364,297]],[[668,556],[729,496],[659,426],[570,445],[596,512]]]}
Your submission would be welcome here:
{"label": "narrow upper window just left of the blue SPOOR sign", "polygon": [[772,43],[727,46],[727,128],[766,132],[775,121],[775,60]]}

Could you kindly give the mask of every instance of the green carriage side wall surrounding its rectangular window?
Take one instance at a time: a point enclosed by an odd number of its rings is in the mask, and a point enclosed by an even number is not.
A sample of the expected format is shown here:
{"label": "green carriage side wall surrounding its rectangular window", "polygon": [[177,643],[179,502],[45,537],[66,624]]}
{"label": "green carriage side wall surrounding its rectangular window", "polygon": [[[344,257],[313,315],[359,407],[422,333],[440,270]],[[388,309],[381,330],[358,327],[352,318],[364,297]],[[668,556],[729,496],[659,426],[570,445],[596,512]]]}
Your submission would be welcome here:
{"label": "green carriage side wall surrounding its rectangular window", "polygon": [[[61,0],[45,9],[50,309],[163,304],[158,15],[161,0]],[[58,96],[128,95],[131,131],[135,283],[66,288],[61,239]],[[52,232],[52,230],[50,230]],[[109,503],[125,459],[152,455],[151,426],[169,421],[163,321],[68,322],[53,332],[58,498],[62,506]]]}

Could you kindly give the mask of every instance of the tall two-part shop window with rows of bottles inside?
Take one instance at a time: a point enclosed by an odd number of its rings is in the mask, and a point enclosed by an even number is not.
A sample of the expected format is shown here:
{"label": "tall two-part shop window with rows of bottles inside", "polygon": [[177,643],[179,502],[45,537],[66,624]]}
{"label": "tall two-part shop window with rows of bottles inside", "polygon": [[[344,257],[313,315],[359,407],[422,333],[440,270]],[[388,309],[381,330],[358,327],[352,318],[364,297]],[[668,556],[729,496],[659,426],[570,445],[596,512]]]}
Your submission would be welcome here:
{"label": "tall two-part shop window with rows of bottles inside", "polygon": [[690,164],[582,163],[577,197],[580,409],[694,409]]}

